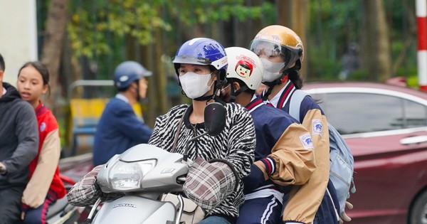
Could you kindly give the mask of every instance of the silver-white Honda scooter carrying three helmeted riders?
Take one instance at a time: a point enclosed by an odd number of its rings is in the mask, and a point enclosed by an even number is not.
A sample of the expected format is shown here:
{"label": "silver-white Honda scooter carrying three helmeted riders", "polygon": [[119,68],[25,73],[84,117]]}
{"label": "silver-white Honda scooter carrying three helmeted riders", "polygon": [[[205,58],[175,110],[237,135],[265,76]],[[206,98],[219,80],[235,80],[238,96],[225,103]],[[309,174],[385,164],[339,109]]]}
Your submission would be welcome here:
{"label": "silver-white Honda scooter carrying three helmeted riders", "polygon": [[[204,117],[205,134],[216,135],[223,130],[226,110],[223,105],[214,102],[206,106]],[[184,156],[170,153],[149,144],[139,144],[123,154],[113,156],[97,174],[97,183],[104,193],[120,192],[125,196],[106,201],[100,208],[98,200],[86,223],[179,224],[184,207],[183,198],[177,196],[178,210],[173,203],[159,198],[164,193],[182,191],[188,171],[186,153]]]}

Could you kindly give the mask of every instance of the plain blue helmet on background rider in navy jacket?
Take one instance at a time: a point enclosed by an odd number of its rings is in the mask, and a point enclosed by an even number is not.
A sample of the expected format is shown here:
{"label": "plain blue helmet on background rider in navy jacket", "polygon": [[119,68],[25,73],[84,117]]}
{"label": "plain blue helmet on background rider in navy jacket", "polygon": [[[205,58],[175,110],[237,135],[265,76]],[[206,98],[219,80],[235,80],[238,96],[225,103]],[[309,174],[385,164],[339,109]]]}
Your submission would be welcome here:
{"label": "plain blue helmet on background rider in navy jacket", "polygon": [[127,60],[117,65],[114,71],[114,85],[117,89],[125,89],[143,77],[151,76],[152,72],[136,61]]}

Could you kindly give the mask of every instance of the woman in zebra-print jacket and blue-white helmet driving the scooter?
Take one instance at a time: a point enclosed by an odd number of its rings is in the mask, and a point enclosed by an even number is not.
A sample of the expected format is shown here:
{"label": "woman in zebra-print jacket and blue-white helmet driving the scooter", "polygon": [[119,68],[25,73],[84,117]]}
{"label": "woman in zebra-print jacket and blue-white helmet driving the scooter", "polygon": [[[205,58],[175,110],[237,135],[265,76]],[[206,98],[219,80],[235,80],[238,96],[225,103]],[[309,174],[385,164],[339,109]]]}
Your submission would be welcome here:
{"label": "woman in zebra-print jacket and blue-white helmet driving the scooter", "polygon": [[[231,169],[234,175],[225,181],[233,180],[237,183],[234,191],[223,193],[226,194],[225,198],[215,208],[206,210],[206,218],[199,224],[236,223],[238,209],[244,202],[241,178],[249,174],[253,163],[255,149],[253,119],[241,105],[228,103],[224,106],[225,129],[215,137],[204,135],[196,141],[189,142],[189,139],[197,135],[206,134],[204,110],[206,105],[217,100],[226,82],[227,56],[218,41],[211,38],[193,38],[181,45],[172,62],[179,78],[179,85],[185,95],[191,98],[191,104],[177,105],[167,114],[157,117],[149,144],[171,151],[176,139],[174,151],[184,154],[186,144],[189,143],[188,156],[195,161],[194,163],[218,161],[218,164]],[[199,179],[203,181],[204,178]],[[186,183],[184,192],[185,189]]]}

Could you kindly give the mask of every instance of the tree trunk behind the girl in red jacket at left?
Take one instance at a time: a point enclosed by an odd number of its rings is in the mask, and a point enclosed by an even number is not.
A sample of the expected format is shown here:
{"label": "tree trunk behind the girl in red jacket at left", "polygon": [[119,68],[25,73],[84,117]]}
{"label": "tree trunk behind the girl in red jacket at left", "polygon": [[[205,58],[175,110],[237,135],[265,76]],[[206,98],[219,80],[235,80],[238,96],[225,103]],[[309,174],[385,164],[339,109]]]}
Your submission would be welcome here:
{"label": "tree trunk behind the girl in red jacket at left", "polygon": [[56,110],[56,99],[60,94],[57,90],[58,72],[67,22],[67,5],[68,0],[51,1],[41,52],[41,62],[46,65],[51,76],[51,97],[45,103],[53,112]]}

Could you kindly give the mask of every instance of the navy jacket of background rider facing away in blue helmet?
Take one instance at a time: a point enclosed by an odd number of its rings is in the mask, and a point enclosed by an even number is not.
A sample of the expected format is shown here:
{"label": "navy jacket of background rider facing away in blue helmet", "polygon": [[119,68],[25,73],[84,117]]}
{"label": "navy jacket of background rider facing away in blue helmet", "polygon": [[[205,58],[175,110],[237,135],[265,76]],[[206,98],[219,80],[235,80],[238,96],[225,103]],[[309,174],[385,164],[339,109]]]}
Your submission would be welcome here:
{"label": "navy jacket of background rider facing away in blue helmet", "polygon": [[142,123],[132,106],[113,97],[102,112],[93,144],[93,163],[105,164],[115,154],[141,143],[147,143],[152,129]]}

